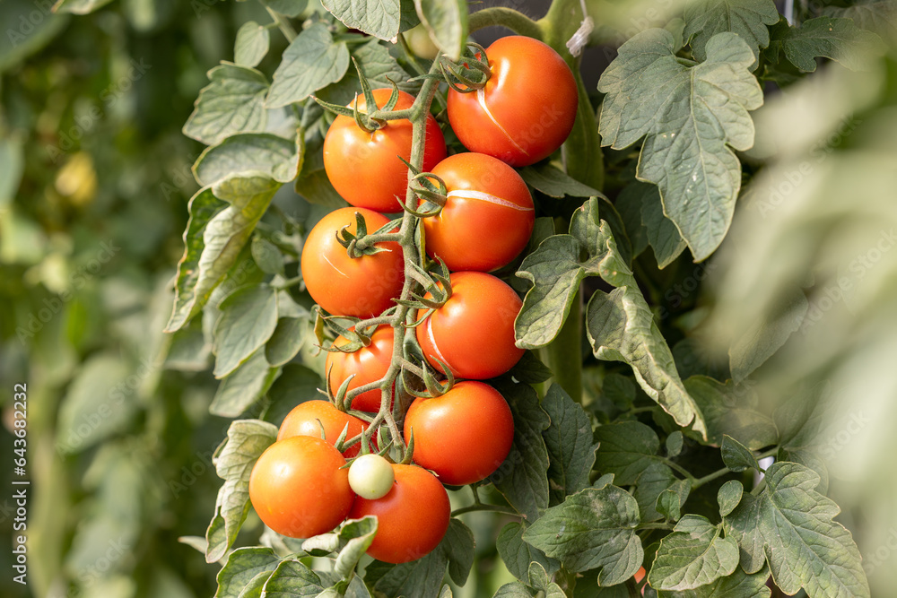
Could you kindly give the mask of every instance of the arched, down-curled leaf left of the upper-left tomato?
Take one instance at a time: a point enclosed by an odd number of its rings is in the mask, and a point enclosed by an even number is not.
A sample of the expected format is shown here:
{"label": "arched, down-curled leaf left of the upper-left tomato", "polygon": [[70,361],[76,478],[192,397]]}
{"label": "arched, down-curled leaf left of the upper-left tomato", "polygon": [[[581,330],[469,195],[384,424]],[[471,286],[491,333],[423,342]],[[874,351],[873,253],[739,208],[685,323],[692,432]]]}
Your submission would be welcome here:
{"label": "arched, down-curled leaf left of the upper-left tomato", "polygon": [[301,159],[296,143],[278,135],[234,134],[207,147],[196,160],[193,173],[202,186],[249,173],[262,173],[279,183],[289,183],[299,174]]}

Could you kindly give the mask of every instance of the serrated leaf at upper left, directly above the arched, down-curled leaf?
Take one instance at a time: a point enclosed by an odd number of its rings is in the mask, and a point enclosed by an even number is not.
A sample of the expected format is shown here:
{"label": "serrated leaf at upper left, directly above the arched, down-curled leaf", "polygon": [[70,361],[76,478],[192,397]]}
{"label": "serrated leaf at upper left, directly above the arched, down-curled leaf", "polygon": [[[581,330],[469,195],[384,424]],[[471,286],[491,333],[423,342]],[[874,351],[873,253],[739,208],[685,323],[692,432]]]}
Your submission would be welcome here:
{"label": "serrated leaf at upper left, directly above the arched, down-curled leaf", "polygon": [[199,91],[196,108],[187,118],[184,134],[212,145],[232,134],[263,131],[268,91],[264,74],[254,68],[223,63],[208,72],[210,83]]}

